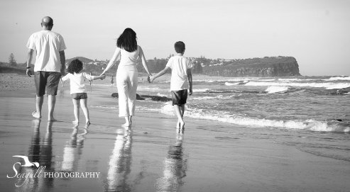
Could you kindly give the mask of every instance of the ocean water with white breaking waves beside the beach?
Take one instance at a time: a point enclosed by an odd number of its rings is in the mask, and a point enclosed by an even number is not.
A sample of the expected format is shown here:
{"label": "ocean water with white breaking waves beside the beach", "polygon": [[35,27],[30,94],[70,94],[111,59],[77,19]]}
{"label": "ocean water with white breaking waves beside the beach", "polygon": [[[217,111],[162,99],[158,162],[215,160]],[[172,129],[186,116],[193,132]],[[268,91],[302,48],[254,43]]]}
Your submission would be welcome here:
{"label": "ocean water with white breaking waves beside the beach", "polygon": [[[255,137],[350,162],[350,77],[193,78],[185,119],[223,139]],[[139,84],[138,94],[171,98],[170,81]],[[141,101],[142,102],[142,101]],[[171,115],[171,102],[143,101],[137,110]],[[217,123],[217,124],[215,124]]]}

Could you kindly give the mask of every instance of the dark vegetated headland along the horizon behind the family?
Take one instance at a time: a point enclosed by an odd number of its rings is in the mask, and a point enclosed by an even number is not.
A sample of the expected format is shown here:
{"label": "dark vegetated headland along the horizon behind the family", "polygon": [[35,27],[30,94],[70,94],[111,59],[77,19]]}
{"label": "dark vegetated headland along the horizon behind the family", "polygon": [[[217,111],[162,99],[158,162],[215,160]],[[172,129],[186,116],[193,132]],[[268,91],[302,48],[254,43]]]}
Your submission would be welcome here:
{"label": "dark vegetated headland along the horizon behind the family", "polygon": [[[11,57],[12,56],[12,57]],[[9,60],[14,60],[11,54]],[[148,68],[152,73],[160,72],[164,69],[168,60],[173,55],[167,58],[158,59],[156,57],[153,60],[147,60]],[[289,77],[299,76],[299,65],[294,57],[263,57],[263,58],[249,58],[249,59],[207,59],[204,56],[201,57],[189,57],[194,64],[192,68],[193,74],[205,74],[209,76],[219,77]],[[109,60],[91,60],[86,57],[74,57],[65,61],[66,67],[75,59],[79,59],[84,63],[84,71],[91,72],[93,75],[101,74],[106,69]],[[14,60],[16,63],[16,60]],[[107,75],[115,75],[116,69],[119,65],[119,61],[114,64]],[[9,68],[6,68],[9,67]],[[25,72],[26,62],[23,63],[3,63],[0,62],[0,73],[9,71],[10,69],[23,69]],[[137,64],[138,72],[145,72],[141,60]],[[22,72],[23,73],[23,72]],[[170,72],[168,72],[170,73]]]}

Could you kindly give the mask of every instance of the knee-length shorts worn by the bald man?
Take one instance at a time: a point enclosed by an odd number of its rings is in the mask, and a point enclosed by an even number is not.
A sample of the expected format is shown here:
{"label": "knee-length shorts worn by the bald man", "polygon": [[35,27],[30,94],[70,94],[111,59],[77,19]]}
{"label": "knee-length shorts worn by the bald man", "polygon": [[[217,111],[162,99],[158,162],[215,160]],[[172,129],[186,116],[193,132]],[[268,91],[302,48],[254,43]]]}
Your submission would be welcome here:
{"label": "knee-length shorts worn by the bald man", "polygon": [[36,95],[45,95],[45,90],[48,95],[57,95],[60,77],[60,72],[34,72]]}

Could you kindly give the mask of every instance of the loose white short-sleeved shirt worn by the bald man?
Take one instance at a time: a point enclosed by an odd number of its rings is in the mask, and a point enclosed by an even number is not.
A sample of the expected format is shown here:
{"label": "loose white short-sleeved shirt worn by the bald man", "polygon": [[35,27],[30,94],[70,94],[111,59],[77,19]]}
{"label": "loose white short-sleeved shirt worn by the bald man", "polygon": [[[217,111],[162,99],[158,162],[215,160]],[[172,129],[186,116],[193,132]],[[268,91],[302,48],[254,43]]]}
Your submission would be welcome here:
{"label": "loose white short-sleeved shirt worn by the bald man", "polygon": [[36,50],[34,72],[60,72],[60,51],[65,50],[65,40],[51,30],[41,30],[33,33],[27,47]]}

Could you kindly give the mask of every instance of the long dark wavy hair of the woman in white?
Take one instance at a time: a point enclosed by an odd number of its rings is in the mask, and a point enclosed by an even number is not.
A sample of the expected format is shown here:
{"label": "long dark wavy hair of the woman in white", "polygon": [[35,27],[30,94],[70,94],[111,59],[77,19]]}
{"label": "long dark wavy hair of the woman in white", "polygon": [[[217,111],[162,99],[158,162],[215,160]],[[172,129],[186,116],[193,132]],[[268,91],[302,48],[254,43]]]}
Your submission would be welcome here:
{"label": "long dark wavy hair of the woman in white", "polygon": [[123,33],[116,40],[116,46],[126,50],[127,52],[134,52],[137,50],[136,33],[131,28],[126,28]]}

